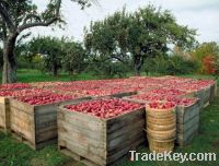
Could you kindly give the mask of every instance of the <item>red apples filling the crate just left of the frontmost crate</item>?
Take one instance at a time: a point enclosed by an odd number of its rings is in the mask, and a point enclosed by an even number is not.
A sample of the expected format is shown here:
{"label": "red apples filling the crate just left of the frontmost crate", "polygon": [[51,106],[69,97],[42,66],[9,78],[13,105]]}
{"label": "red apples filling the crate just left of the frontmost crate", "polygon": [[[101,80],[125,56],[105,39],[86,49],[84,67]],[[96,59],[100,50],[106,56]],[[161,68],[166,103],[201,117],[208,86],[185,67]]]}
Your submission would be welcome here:
{"label": "red apples filling the crate just left of the frontmost crate", "polygon": [[41,94],[41,95],[34,95],[34,96],[18,97],[16,99],[30,105],[45,105],[45,104],[60,103],[65,100],[76,99],[76,98],[78,98],[78,95],[73,96],[73,95],[47,93],[47,94]]}

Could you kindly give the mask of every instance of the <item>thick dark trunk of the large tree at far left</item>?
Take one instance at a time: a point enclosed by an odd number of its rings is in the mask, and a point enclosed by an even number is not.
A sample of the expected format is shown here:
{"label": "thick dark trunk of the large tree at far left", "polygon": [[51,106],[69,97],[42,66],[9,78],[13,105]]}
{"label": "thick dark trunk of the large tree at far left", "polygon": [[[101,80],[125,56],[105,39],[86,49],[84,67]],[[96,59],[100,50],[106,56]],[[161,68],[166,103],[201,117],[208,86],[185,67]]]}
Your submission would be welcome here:
{"label": "thick dark trunk of the large tree at far left", "polygon": [[16,35],[9,36],[3,45],[3,70],[2,70],[2,83],[15,83],[16,82],[16,60],[14,55],[14,48],[16,43]]}

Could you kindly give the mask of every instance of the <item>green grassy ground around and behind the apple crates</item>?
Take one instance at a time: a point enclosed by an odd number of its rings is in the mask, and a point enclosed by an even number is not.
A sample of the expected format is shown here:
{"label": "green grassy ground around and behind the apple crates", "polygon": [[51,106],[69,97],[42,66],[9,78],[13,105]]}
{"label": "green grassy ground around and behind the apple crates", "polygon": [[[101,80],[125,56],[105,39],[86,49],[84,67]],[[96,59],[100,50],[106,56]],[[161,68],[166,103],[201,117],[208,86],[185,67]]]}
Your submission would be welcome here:
{"label": "green grassy ground around and behind the apple crates", "polygon": [[[22,74],[23,72],[23,74]],[[187,75],[188,76],[188,75]],[[81,74],[79,80],[88,80],[90,74]],[[197,78],[200,78],[198,75]],[[206,78],[206,76],[201,76]],[[92,78],[93,79],[93,78]],[[35,81],[69,81],[67,75],[57,79],[45,75],[37,71],[20,71],[20,82]],[[141,146],[139,152],[149,152],[148,147]],[[193,142],[185,147],[176,147],[175,152],[182,153],[206,153],[214,152],[219,156],[219,97],[216,97],[208,107],[200,114],[199,133]],[[129,162],[124,158],[118,163],[119,166],[178,166],[178,162]],[[217,162],[185,162],[184,166],[217,166]],[[60,154],[56,145],[47,146],[41,151],[34,152],[25,144],[0,132],[0,166],[82,166],[71,158]]]}

